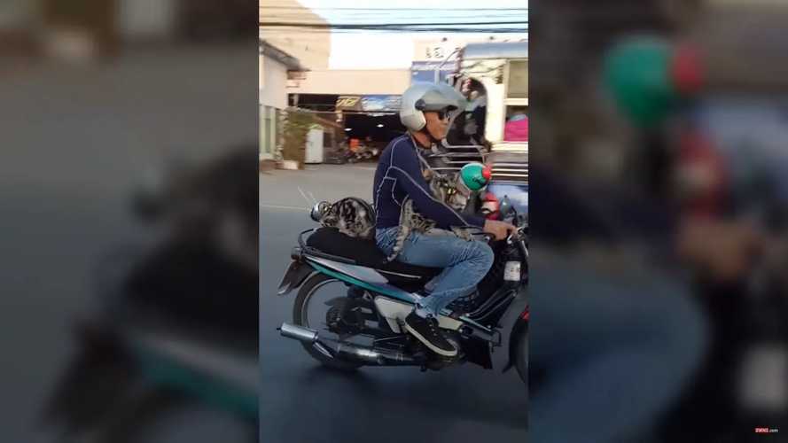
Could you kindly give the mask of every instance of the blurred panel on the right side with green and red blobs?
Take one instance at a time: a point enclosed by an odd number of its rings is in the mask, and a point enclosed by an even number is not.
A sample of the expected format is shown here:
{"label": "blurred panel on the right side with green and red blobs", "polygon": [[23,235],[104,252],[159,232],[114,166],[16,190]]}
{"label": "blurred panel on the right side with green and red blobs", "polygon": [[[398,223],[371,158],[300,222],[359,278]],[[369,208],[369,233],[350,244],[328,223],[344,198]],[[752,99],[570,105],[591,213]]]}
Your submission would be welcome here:
{"label": "blurred panel on the right side with green and red blobs", "polygon": [[534,441],[784,440],[786,14],[531,5]]}

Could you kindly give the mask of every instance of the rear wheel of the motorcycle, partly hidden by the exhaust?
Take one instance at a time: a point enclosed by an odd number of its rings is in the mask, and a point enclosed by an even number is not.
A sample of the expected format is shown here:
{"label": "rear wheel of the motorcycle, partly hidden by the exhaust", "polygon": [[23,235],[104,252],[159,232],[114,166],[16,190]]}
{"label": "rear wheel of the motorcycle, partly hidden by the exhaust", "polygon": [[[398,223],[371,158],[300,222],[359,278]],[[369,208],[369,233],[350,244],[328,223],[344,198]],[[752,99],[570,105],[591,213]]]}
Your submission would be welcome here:
{"label": "rear wheel of the motorcycle, partly hidden by the exhaust", "polygon": [[[295,303],[293,304],[293,323],[304,328],[317,330],[321,337],[324,337],[326,333],[330,333],[329,330],[326,329],[325,317],[331,307],[325,303],[321,303],[321,298],[325,299],[326,296],[331,297],[329,301],[338,299],[344,295],[342,294],[342,290],[347,293],[347,287],[337,278],[324,274],[314,274],[310,276],[307,281],[301,285],[298,291],[298,297],[296,297]],[[304,346],[304,350],[306,350],[316,361],[320,361],[325,366],[332,369],[354,370],[363,366],[361,363],[329,357],[317,350],[315,345],[311,343],[302,342],[301,346]]]}

